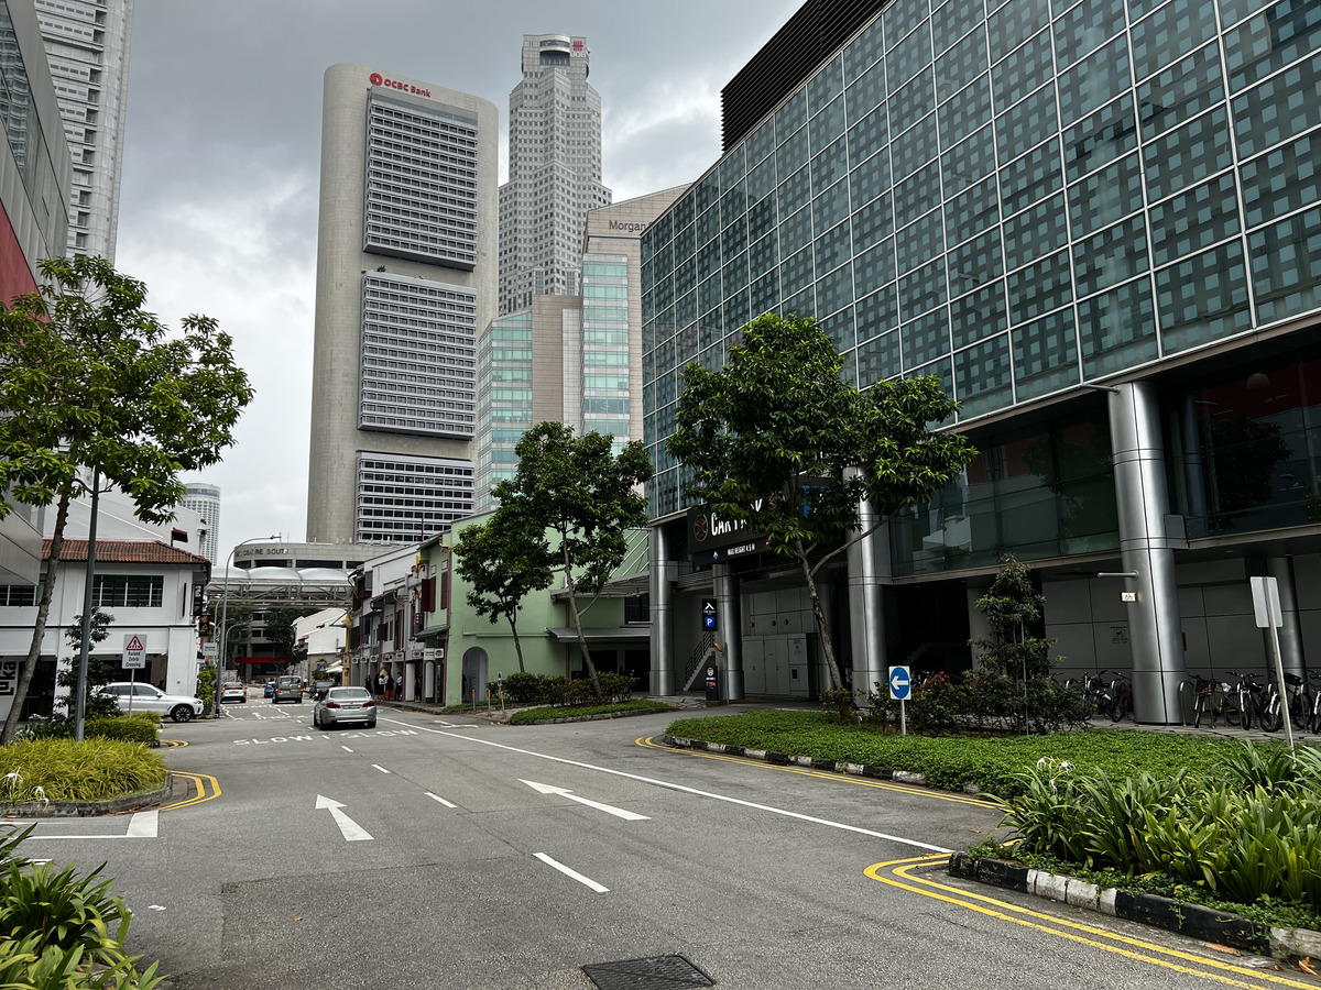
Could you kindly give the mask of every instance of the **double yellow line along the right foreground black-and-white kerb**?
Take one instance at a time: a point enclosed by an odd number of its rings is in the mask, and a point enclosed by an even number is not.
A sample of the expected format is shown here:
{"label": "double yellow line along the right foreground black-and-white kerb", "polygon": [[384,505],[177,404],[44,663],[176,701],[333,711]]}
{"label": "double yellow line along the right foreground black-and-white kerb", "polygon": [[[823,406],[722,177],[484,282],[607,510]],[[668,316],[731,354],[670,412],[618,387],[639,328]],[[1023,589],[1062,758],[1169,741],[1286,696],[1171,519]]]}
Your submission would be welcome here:
{"label": "double yellow line along the right foreground black-and-white kerb", "polygon": [[867,867],[865,873],[878,883],[898,887],[923,898],[954,904],[967,911],[975,911],[988,917],[1009,921],[1024,928],[1030,928],[1042,935],[1063,939],[1073,942],[1090,945],[1102,952],[1114,953],[1135,962],[1144,962],[1151,966],[1185,973],[1202,979],[1210,979],[1226,986],[1246,987],[1247,990],[1269,990],[1269,987],[1288,986],[1299,990],[1317,990],[1314,982],[1301,982],[1276,973],[1248,970],[1232,962],[1206,958],[1192,952],[1184,952],[1143,939],[1108,932],[1096,925],[1081,921],[1069,921],[1054,915],[1048,915],[1032,908],[1009,904],[996,898],[983,894],[974,894],[946,883],[914,875],[914,871],[939,867],[945,863],[943,855],[922,855],[909,859],[890,859],[884,863],[875,863]]}

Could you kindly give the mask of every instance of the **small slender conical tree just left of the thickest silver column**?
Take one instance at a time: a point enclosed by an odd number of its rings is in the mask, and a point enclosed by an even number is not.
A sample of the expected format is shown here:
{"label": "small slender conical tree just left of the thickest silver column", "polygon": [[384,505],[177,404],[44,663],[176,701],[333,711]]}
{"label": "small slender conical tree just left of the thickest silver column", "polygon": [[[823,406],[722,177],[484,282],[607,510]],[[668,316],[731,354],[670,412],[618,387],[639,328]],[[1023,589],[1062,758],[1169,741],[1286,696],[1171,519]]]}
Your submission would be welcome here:
{"label": "small slender conical tree just left of the thickest silver column", "polygon": [[1037,630],[1046,616],[1046,597],[1032,583],[1032,569],[1012,553],[1000,558],[1000,573],[989,590],[978,599],[989,639],[971,639],[982,664],[1016,681],[1050,676],[1053,639],[1041,639]]}

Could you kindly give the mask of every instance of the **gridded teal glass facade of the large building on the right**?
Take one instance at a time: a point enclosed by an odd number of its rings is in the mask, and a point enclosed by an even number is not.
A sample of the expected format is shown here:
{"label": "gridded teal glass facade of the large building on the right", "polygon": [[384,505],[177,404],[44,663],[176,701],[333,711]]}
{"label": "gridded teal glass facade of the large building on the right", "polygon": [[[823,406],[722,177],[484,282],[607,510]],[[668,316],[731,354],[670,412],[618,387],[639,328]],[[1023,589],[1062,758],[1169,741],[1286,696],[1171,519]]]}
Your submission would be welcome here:
{"label": "gridded teal glass facade of the large building on the right", "polygon": [[679,371],[764,312],[963,421],[1316,313],[1318,41],[1295,0],[890,4],[643,236],[653,516]]}

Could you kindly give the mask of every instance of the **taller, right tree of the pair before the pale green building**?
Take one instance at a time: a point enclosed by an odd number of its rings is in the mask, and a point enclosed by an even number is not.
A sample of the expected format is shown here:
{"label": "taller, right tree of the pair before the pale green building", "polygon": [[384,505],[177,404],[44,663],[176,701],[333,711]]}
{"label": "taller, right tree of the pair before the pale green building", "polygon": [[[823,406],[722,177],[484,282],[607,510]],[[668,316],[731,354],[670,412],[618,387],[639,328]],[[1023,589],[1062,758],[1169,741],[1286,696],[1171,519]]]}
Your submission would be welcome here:
{"label": "taller, right tree of the pair before the pale green building", "polygon": [[[520,560],[540,573],[538,581],[543,582],[530,590],[548,587],[555,573],[564,577],[583,663],[600,700],[601,678],[583,634],[583,616],[624,562],[627,531],[647,523],[646,499],[637,488],[651,478],[651,462],[638,441],[616,455],[610,437],[588,433],[575,438],[573,428],[561,422],[540,422],[527,430],[514,453],[518,469],[495,486],[501,504],[487,525],[509,519],[509,532],[528,537]],[[497,525],[505,527],[503,519]],[[580,593],[590,595],[585,605],[580,605]]]}

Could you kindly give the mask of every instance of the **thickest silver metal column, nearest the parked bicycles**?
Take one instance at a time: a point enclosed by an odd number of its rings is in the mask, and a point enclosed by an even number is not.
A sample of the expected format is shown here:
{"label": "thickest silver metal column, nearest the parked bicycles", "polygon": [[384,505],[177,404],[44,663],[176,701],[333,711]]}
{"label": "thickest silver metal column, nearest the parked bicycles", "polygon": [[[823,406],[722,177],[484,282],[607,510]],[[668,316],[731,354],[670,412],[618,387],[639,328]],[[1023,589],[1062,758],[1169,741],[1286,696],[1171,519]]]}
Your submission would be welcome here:
{"label": "thickest silver metal column, nearest the parked bicycles", "polygon": [[1169,494],[1156,385],[1151,381],[1118,385],[1108,405],[1119,550],[1123,569],[1136,576],[1124,578],[1124,590],[1135,598],[1127,603],[1133,714],[1148,725],[1176,725],[1181,721],[1184,630],[1174,550],[1165,532]]}

